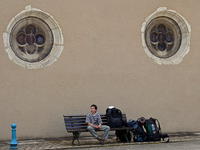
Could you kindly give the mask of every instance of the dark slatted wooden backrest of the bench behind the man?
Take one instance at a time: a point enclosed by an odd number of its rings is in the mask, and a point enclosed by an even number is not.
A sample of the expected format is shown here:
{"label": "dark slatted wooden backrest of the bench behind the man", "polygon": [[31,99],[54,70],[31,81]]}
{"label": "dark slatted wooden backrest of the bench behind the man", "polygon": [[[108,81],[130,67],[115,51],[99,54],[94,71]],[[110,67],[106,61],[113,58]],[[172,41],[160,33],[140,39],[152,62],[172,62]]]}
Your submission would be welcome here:
{"label": "dark slatted wooden backrest of the bench behind the man", "polygon": [[[68,132],[74,131],[87,131],[87,124],[85,123],[86,115],[73,115],[66,116],[63,115],[65,127]],[[101,115],[103,125],[107,125],[107,116],[105,114]],[[126,122],[126,114],[122,114],[122,119]]]}

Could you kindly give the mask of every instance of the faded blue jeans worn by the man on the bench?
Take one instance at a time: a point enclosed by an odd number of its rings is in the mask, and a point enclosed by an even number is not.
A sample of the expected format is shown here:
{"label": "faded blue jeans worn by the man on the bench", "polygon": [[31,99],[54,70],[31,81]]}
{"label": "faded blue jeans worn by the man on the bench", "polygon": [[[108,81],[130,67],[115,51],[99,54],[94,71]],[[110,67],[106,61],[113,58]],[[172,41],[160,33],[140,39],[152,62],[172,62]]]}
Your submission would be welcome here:
{"label": "faded blue jeans worn by the man on the bench", "polygon": [[106,125],[102,125],[101,128],[99,129],[95,129],[91,126],[88,126],[87,129],[90,131],[90,133],[95,137],[95,138],[99,138],[99,136],[97,135],[97,132],[96,130],[100,130],[100,131],[104,131],[104,134],[103,134],[103,139],[106,140],[108,139],[108,133],[110,131],[110,127],[109,126],[106,126]]}

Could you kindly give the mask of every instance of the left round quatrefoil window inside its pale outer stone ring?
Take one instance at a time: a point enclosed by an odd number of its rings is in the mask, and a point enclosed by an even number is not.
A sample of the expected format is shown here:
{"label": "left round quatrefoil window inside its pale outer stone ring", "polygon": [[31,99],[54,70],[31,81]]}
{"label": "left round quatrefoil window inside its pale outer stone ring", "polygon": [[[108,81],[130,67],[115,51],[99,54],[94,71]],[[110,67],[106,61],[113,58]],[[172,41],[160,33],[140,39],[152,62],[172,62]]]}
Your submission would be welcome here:
{"label": "left round quatrefoil window inside its pale outer stone ring", "polygon": [[18,21],[13,27],[10,44],[20,59],[38,62],[49,55],[53,45],[53,35],[43,20],[27,17]]}

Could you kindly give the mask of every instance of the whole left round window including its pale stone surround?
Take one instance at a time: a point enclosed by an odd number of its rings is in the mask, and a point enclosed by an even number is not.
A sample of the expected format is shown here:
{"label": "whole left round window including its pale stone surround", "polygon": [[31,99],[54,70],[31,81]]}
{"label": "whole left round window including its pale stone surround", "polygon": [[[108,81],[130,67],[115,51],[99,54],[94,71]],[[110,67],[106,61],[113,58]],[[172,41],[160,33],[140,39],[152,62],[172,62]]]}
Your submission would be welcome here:
{"label": "whole left round window including its pale stone surround", "polygon": [[10,20],[3,40],[9,59],[27,69],[53,64],[64,48],[58,22],[49,13],[30,5]]}

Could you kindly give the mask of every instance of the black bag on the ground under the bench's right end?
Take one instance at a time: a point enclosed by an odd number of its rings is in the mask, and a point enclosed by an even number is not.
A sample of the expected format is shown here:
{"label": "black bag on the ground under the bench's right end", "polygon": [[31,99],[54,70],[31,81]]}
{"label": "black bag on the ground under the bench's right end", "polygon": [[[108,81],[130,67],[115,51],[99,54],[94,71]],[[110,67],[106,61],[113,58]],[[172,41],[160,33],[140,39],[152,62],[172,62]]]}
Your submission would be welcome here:
{"label": "black bag on the ground under the bench's right end", "polygon": [[116,130],[115,135],[117,137],[117,140],[123,143],[131,142],[132,135],[129,130]]}

